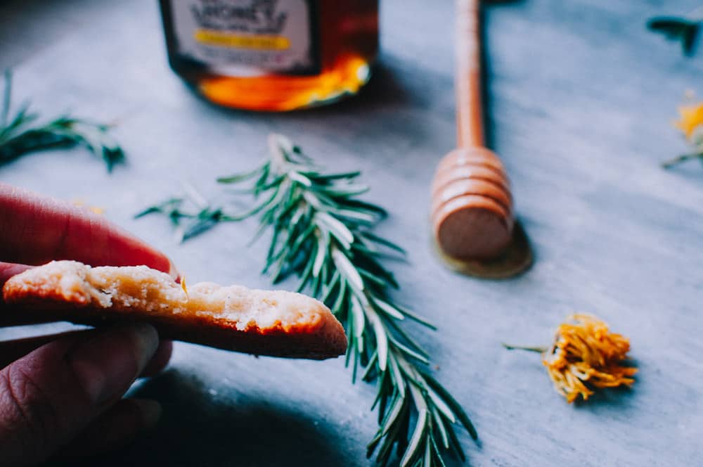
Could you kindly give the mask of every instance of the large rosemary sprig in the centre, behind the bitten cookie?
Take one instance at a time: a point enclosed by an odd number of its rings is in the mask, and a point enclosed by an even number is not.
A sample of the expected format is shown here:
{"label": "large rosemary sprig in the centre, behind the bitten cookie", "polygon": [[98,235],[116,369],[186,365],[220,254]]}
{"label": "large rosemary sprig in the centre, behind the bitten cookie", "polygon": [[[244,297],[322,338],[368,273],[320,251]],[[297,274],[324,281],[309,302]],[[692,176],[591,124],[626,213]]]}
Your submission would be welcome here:
{"label": "large rosemary sprig in the centre, behind the bitten cookie", "polygon": [[[259,231],[272,231],[264,273],[273,283],[291,275],[299,291],[327,304],[347,330],[347,366],[352,381],[377,387],[379,428],[368,443],[380,465],[392,458],[401,466],[444,466],[452,454],[465,460],[455,433],[462,425],[474,440],[477,433],[456,399],[429,369],[430,356],[403,328],[406,320],[434,329],[428,321],[399,305],[391,291],[399,288],[382,261],[404,255],[395,243],[376,236],[386,216],[382,207],[359,200],[368,187],[359,172],[325,173],[299,147],[280,135],[269,137],[270,158],[247,174],[218,179],[221,184],[251,181],[246,191],[258,200],[248,212],[224,220],[259,217]],[[195,212],[181,212],[179,200],[150,207],[179,225]],[[201,208],[202,209],[202,208]]]}

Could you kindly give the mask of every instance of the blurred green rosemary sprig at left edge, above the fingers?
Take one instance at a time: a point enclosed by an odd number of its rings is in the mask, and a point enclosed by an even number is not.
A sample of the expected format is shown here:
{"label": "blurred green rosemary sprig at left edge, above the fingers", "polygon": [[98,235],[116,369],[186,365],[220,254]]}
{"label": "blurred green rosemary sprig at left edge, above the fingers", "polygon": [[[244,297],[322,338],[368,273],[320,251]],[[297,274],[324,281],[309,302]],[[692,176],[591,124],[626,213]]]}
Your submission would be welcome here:
{"label": "blurred green rosemary sprig at left edge, above the fingers", "polygon": [[32,151],[84,146],[102,158],[108,172],[124,161],[122,148],[110,137],[110,125],[96,124],[63,115],[50,122],[37,124],[39,115],[30,112],[29,103],[22,103],[11,117],[12,75],[5,72],[5,87],[0,110],[0,165]]}

